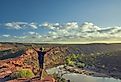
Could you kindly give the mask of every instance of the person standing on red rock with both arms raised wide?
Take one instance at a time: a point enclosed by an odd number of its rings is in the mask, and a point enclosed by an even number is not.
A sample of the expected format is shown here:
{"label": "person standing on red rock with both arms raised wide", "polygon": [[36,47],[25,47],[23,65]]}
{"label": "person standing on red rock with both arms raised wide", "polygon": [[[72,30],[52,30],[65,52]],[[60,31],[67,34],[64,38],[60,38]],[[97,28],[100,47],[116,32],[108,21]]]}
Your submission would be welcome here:
{"label": "person standing on red rock with both arms raised wide", "polygon": [[35,49],[32,45],[32,48],[37,52],[38,54],[38,61],[39,61],[39,70],[40,70],[40,79],[42,77],[42,71],[44,69],[44,56],[49,52],[51,51],[53,48],[47,50],[47,51],[43,51],[43,48],[39,48],[39,49]]}

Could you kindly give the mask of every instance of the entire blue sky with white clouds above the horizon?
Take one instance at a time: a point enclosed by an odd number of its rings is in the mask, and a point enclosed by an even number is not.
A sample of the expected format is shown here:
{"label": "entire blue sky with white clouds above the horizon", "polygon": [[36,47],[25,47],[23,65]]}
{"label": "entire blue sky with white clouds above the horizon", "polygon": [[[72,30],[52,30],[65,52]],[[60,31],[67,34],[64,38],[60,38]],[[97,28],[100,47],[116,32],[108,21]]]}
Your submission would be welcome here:
{"label": "entire blue sky with white clouds above the horizon", "polygon": [[0,42],[120,42],[121,0],[0,0]]}

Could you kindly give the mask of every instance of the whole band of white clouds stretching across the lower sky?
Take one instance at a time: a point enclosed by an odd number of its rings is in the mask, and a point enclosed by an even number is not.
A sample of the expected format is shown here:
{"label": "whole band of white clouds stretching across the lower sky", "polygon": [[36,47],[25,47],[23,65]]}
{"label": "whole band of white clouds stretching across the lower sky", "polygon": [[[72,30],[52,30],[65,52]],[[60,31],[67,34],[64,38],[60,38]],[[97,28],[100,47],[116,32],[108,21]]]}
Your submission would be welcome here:
{"label": "whole band of white clouds stretching across the lower sky", "polygon": [[[65,24],[59,23],[26,23],[26,22],[12,22],[6,23],[5,26],[13,29],[24,29],[30,28],[29,32],[25,33],[25,36],[16,36],[12,38],[18,38],[20,41],[84,41],[84,40],[120,40],[121,37],[121,27],[98,27],[93,23],[84,22],[83,24],[78,24],[77,22],[69,22]],[[46,28],[45,35],[41,32],[34,32],[33,29],[41,29],[39,27]],[[26,29],[25,29],[26,30]],[[3,37],[9,37],[10,35],[3,35]],[[27,40],[28,39],[28,40]]]}

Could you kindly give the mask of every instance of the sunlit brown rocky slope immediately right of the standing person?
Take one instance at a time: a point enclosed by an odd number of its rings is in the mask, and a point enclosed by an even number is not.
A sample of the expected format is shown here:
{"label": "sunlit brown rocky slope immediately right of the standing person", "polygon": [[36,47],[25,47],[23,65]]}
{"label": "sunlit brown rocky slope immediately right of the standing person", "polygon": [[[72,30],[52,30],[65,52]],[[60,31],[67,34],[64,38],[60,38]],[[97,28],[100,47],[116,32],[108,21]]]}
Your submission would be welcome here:
{"label": "sunlit brown rocky slope immediately right of the standing person", "polygon": [[64,63],[66,47],[56,47],[45,56],[45,67],[53,67]]}

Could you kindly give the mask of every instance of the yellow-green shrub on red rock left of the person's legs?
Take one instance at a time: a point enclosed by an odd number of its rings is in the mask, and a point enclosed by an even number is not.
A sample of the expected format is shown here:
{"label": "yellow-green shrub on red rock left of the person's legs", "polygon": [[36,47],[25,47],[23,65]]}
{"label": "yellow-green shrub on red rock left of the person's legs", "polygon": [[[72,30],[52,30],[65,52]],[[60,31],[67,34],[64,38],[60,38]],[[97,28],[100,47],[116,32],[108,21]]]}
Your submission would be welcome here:
{"label": "yellow-green shrub on red rock left of the person's legs", "polygon": [[10,79],[17,78],[31,78],[34,77],[34,73],[30,69],[20,69],[10,75]]}

